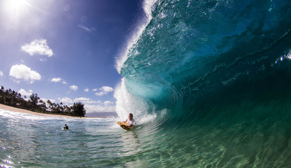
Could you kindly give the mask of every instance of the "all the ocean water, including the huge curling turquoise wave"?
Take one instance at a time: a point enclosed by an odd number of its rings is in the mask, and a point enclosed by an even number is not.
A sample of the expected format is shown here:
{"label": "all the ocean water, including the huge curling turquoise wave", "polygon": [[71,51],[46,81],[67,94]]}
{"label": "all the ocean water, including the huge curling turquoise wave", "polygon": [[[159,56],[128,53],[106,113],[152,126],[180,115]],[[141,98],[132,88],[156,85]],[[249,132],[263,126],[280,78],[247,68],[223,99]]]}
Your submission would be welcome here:
{"label": "all the ocean water, including the huge curling turquoise wave", "polygon": [[[120,118],[1,111],[3,166],[291,167],[290,7],[145,1],[148,18],[116,62]],[[138,126],[127,131],[115,122],[128,113]]]}

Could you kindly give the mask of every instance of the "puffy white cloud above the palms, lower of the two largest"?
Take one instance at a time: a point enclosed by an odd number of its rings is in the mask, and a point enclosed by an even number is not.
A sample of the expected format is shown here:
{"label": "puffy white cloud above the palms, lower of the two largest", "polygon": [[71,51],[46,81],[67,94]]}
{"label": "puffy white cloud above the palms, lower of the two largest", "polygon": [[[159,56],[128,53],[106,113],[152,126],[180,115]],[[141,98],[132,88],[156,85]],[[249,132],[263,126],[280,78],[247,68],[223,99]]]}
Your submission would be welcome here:
{"label": "puffy white cloud above the palms, lower of the two largest", "polygon": [[10,69],[9,75],[16,79],[24,79],[33,83],[35,80],[40,80],[41,76],[36,71],[32,71],[31,68],[21,64],[13,65]]}

